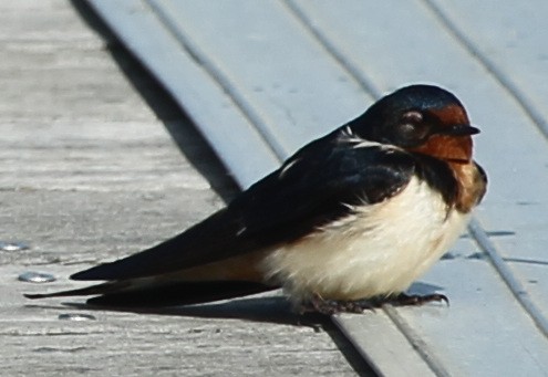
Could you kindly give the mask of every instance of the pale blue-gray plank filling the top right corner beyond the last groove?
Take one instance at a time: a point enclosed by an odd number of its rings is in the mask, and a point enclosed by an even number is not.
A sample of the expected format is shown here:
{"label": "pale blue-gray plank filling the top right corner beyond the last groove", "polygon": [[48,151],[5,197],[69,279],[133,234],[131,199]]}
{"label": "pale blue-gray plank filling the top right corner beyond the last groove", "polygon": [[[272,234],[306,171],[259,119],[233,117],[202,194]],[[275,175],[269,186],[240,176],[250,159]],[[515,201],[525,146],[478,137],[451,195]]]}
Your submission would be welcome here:
{"label": "pale blue-gray plank filling the top right corner beyond the last groove", "polygon": [[545,1],[425,1],[461,43],[506,87],[548,134],[548,70]]}

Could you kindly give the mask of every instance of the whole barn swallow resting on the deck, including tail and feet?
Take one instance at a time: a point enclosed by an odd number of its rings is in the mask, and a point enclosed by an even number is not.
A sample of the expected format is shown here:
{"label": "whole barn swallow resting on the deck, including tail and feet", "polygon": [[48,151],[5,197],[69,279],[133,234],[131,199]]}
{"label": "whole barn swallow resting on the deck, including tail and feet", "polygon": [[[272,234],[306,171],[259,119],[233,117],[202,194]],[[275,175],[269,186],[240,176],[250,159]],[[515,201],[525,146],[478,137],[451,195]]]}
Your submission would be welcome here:
{"label": "whole barn swallow resting on the deck, including tail and feet", "polygon": [[71,276],[106,282],[27,297],[94,295],[87,303],[123,307],[283,287],[296,307],[322,313],[409,297],[486,191],[472,159],[477,133],[452,93],[400,88],[182,234]]}

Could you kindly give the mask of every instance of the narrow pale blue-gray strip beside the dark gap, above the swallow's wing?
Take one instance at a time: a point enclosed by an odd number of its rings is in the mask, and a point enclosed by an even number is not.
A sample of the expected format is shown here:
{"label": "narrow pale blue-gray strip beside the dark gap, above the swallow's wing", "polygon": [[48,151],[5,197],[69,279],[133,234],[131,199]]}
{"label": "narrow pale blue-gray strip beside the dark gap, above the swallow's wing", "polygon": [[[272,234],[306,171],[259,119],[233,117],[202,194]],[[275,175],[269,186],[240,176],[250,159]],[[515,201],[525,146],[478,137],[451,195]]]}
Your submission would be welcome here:
{"label": "narrow pale blue-gray strip beside the dark gap, above the swallow's wing", "polygon": [[[195,56],[182,49],[174,35],[151,11],[144,1],[91,2],[105,20],[116,25],[116,31],[127,48],[139,56],[152,71],[162,70],[163,84],[178,104],[203,125],[203,135],[219,155],[239,184],[251,184],[263,171],[272,170],[278,163],[270,145],[247,118],[247,114],[227,95],[223,85],[208,76],[195,61]],[[128,38],[143,34],[147,38]],[[207,112],[197,111],[207,108]],[[255,159],[240,148],[241,140],[255,146]],[[235,168],[237,167],[237,168]]]}

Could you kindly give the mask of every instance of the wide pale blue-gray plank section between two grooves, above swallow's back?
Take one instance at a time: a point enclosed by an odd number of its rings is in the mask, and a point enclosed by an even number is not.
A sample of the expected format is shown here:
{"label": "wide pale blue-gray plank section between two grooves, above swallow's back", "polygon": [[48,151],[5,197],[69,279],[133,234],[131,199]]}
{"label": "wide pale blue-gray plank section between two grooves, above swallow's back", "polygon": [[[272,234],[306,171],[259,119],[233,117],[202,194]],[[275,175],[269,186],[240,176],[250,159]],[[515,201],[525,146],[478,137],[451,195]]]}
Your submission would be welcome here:
{"label": "wide pale blue-gray plank section between two grooves, above swallow's back", "polygon": [[[255,126],[281,159],[362,113],[371,100],[282,2],[240,0],[237,7],[199,0],[149,2],[179,43],[193,40],[199,60],[211,62],[211,74],[244,98],[255,114]],[[235,17],[225,17],[230,13]],[[325,92],[325,82],[318,77],[338,84]]]}

